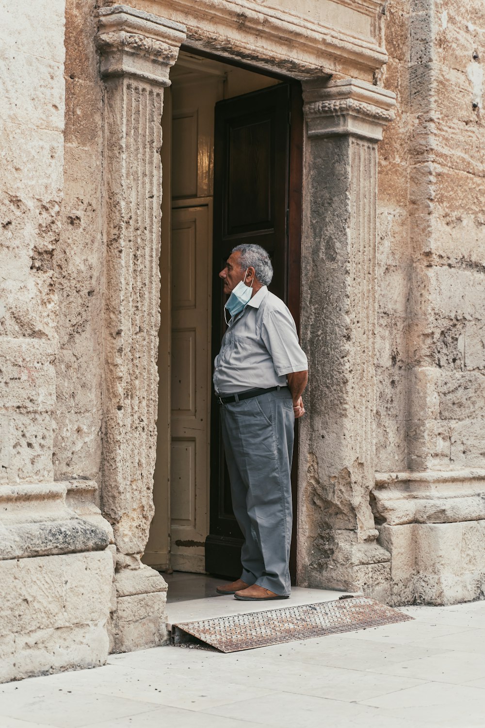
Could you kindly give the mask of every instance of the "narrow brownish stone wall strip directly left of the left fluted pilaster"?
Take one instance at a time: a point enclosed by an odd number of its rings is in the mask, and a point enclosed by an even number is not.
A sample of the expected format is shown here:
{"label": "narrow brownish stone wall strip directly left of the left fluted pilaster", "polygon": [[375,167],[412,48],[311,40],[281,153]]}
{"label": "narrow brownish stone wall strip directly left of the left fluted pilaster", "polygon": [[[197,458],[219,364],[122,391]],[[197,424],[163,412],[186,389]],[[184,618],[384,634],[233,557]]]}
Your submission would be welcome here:
{"label": "narrow brownish stone wall strip directly left of the left fluted pilaster", "polygon": [[94,0],[65,6],[64,195],[53,271],[60,309],[54,468],[56,478],[100,483],[103,87],[94,10]]}

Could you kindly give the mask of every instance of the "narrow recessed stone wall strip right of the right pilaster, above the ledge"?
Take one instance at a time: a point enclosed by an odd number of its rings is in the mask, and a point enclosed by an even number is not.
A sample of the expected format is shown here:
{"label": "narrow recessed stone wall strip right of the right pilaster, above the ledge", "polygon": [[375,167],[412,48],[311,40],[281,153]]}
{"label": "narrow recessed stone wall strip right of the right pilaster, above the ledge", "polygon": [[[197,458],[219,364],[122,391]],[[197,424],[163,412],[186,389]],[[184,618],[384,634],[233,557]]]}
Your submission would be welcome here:
{"label": "narrow recessed stone wall strip right of the right pilaster, above the ledge", "polygon": [[409,296],[409,0],[383,16],[388,63],[380,83],[396,93],[396,119],[378,157],[376,465],[406,469],[407,301]]}

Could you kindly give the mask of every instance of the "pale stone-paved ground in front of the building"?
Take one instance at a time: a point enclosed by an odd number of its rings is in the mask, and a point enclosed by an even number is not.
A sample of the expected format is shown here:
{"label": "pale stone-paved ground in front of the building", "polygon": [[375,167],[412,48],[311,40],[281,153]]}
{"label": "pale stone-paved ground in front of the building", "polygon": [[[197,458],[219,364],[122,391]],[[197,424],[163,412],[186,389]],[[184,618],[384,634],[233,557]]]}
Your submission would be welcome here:
{"label": "pale stone-paved ground in front of the building", "polygon": [[1,685],[0,728],[483,728],[485,602],[404,611],[414,621],[233,654],[157,647]]}

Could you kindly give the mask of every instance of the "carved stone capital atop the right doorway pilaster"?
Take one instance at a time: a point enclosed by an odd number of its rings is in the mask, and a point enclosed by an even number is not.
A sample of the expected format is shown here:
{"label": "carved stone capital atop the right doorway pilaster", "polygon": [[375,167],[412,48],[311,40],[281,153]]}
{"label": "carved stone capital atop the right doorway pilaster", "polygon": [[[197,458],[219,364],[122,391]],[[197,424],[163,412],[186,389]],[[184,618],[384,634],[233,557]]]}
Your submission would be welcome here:
{"label": "carved stone capital atop the right doorway pilaster", "polygon": [[303,86],[309,137],[353,135],[382,139],[382,129],[393,121],[396,94],[356,79]]}

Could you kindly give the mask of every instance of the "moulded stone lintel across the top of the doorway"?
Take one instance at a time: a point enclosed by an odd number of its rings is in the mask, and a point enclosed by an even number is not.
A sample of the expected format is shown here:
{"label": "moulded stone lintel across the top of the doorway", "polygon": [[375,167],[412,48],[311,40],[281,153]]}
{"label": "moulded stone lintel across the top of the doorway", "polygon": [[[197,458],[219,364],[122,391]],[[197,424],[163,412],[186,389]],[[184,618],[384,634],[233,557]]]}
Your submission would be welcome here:
{"label": "moulded stone lintel across the top of the doorway", "polygon": [[[322,74],[365,74],[387,63],[374,0],[316,0],[303,14],[290,1],[157,0],[166,17],[183,18],[187,45],[255,63],[298,79]],[[343,24],[342,24],[342,21]]]}

